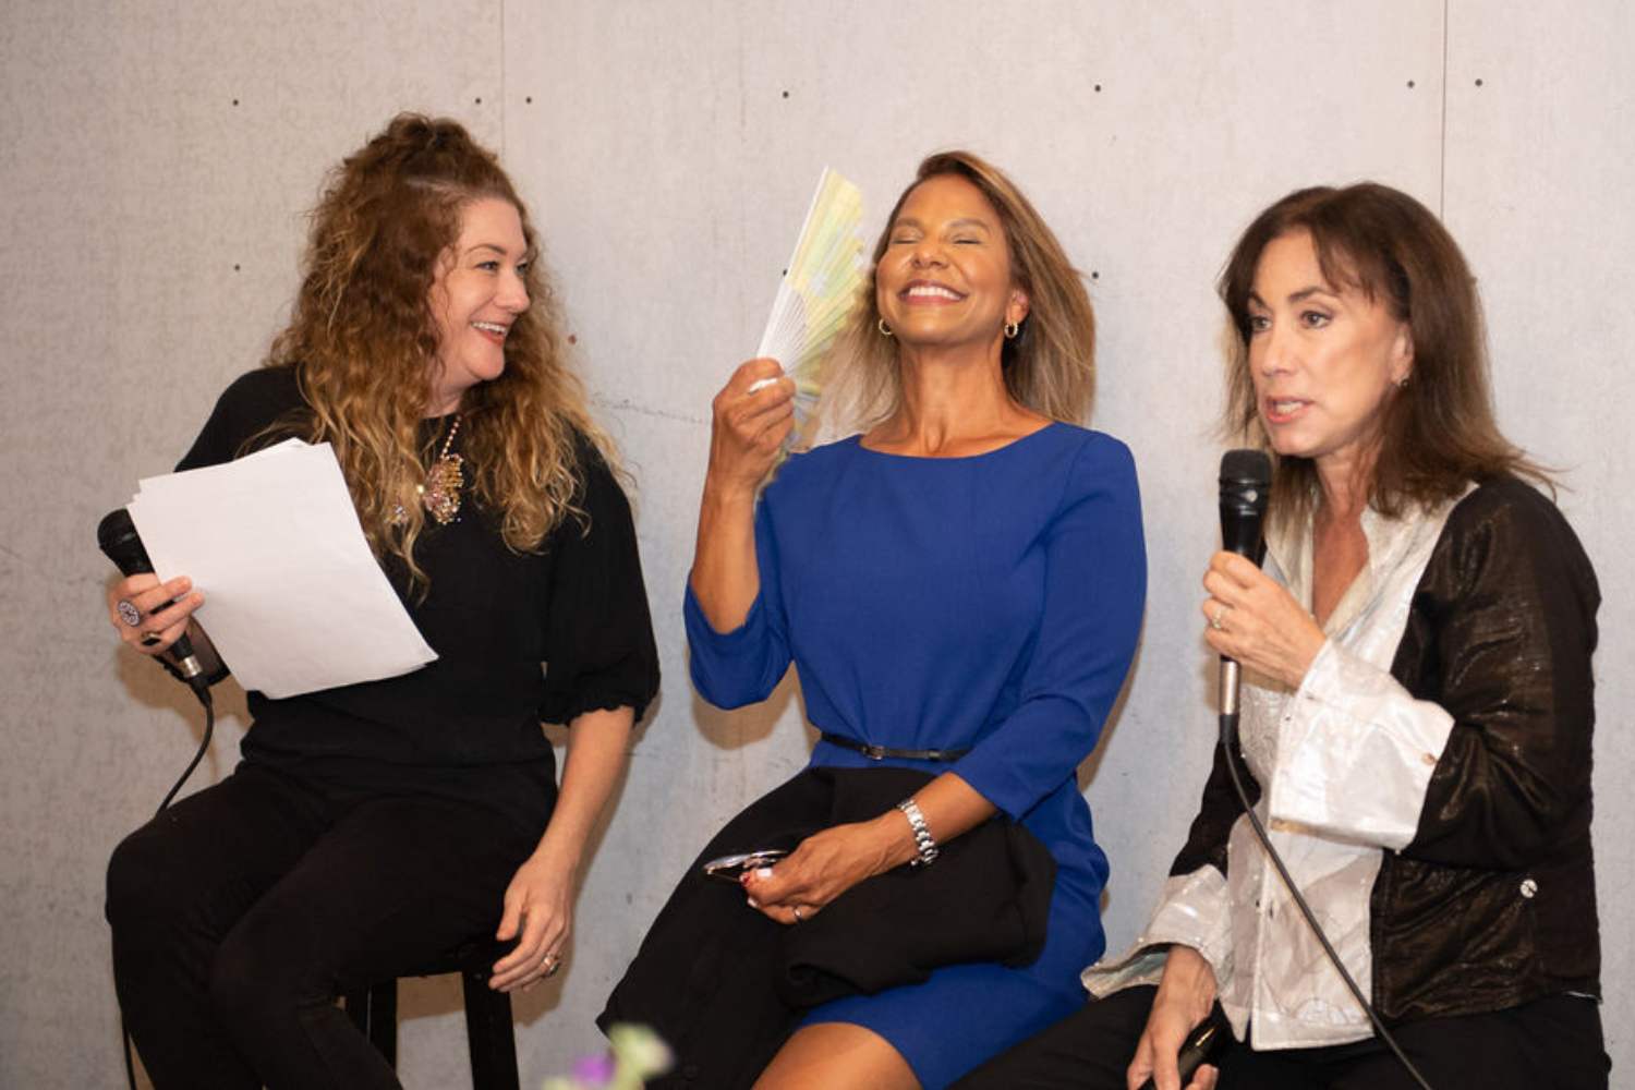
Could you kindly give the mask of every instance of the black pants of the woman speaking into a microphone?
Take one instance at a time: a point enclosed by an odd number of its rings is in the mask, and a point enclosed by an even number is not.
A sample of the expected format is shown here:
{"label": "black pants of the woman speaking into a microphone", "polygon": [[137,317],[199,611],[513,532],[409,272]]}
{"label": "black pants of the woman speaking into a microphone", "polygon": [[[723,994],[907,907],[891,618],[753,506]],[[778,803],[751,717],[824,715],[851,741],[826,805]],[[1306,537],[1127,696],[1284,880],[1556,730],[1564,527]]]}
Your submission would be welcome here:
{"label": "black pants of the woman speaking into a microphone", "polygon": [[[1091,1002],[989,1061],[955,1090],[1127,1090],[1125,1069],[1153,1010],[1154,987]],[[1393,1028],[1396,1043],[1436,1090],[1606,1090],[1601,1012],[1552,995],[1486,1015],[1426,1018]],[[1418,1083],[1378,1041],[1218,1054],[1218,1090],[1413,1090]]]}

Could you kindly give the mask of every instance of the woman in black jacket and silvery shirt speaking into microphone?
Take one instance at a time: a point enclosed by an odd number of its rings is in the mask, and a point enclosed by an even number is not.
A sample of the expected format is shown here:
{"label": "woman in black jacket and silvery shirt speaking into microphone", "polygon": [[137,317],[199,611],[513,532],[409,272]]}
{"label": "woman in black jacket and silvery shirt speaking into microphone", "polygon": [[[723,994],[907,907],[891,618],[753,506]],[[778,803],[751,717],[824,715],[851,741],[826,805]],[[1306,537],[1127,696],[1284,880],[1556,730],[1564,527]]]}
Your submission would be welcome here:
{"label": "woman in black jacket and silvery shirt speaking into microphone", "polygon": [[[1292,193],[1221,276],[1228,423],[1275,456],[1265,570],[1218,552],[1205,641],[1295,886],[1432,1087],[1606,1087],[1591,861],[1596,575],[1493,420],[1475,279],[1422,204]],[[1426,1085],[1375,1036],[1218,750],[1135,949],[968,1087]]]}

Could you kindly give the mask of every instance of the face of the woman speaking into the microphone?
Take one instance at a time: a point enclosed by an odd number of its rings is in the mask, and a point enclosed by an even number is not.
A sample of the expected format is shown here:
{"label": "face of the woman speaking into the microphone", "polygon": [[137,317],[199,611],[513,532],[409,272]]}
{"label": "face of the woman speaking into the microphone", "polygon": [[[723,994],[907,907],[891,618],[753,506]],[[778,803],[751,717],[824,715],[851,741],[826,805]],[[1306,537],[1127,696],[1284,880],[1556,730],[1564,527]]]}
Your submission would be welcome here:
{"label": "face of the woman speaking into the microphone", "polygon": [[1310,234],[1267,243],[1249,294],[1249,374],[1272,449],[1324,474],[1367,469],[1411,369],[1408,324],[1360,288],[1328,283]]}

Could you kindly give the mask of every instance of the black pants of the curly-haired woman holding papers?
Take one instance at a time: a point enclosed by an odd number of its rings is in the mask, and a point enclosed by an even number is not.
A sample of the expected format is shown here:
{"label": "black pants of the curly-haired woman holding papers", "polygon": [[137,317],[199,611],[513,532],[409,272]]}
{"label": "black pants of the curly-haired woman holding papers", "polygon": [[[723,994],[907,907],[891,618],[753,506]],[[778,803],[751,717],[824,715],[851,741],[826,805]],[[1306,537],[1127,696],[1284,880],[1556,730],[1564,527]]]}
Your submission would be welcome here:
{"label": "black pants of the curly-haired woman holding papers", "polygon": [[497,811],[255,766],[177,802],[108,866],[119,1007],[155,1087],[397,1087],[335,995],[492,933],[535,843]]}

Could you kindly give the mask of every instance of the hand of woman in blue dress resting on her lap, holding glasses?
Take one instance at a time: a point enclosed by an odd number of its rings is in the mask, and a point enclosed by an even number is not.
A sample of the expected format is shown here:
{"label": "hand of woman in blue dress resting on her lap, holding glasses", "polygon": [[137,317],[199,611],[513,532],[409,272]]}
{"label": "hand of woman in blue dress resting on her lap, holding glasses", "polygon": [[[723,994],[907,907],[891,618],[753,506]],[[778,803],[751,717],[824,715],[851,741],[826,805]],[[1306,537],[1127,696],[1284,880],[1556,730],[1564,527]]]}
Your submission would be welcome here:
{"label": "hand of woman in blue dress resting on her lap, holding glasses", "polygon": [[865,878],[912,858],[907,819],[891,811],[814,833],[777,866],[746,873],[741,884],[752,909],[778,923],[800,923]]}

